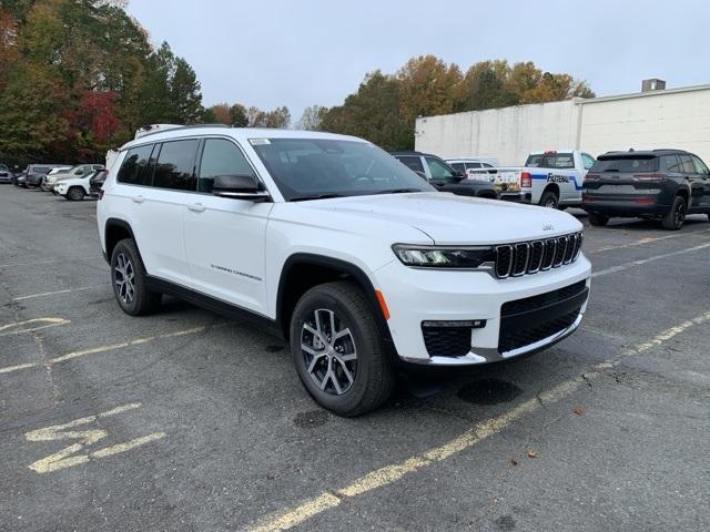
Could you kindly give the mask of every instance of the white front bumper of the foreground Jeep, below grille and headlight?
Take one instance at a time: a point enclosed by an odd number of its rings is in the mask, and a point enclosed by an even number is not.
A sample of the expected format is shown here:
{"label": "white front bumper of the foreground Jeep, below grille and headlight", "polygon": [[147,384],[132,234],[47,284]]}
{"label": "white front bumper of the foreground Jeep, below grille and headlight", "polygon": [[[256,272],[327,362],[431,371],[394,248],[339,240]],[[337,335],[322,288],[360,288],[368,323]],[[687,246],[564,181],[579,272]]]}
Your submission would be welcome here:
{"label": "white front bumper of the foreground Jeep, below grille and headlight", "polygon": [[[523,277],[497,279],[485,272],[432,272],[408,268],[393,262],[375,273],[377,286],[383,291],[390,318],[389,331],[399,357],[407,362],[434,366],[470,366],[507,360],[520,355],[547,348],[574,332],[587,308],[591,265],[584,255],[569,265],[549,272]],[[560,307],[534,309],[531,320],[540,314],[555,313],[567,320],[559,321],[558,329],[549,335],[532,335],[529,344],[508,348],[506,331],[515,330],[510,316],[501,314],[506,303],[518,301],[560,290],[582,283],[584,297],[560,301]],[[520,317],[525,320],[526,313]],[[467,352],[430,352],[424,336],[424,325],[429,321],[480,321],[483,326],[470,329]],[[501,334],[501,330],[504,334]],[[468,334],[468,332],[466,332]],[[468,337],[464,339],[468,340]]]}

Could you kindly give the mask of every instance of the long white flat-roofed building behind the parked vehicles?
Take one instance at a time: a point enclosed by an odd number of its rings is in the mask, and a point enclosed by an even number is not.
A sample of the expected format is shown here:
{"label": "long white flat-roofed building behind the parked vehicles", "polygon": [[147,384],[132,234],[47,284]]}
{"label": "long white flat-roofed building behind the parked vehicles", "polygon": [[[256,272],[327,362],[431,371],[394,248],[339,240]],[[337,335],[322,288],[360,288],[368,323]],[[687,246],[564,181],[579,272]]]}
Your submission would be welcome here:
{"label": "long white flat-roofed building behind the parked vehicles", "polygon": [[417,119],[415,147],[521,165],[536,150],[677,147],[710,164],[710,85]]}

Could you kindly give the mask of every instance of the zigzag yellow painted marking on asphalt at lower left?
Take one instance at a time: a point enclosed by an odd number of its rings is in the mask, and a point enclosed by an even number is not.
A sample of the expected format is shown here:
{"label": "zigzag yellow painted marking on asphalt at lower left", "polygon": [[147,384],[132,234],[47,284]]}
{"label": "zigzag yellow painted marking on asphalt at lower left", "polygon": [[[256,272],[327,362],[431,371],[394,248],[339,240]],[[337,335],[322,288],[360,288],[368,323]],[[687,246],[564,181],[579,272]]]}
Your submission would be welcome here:
{"label": "zigzag yellow painted marking on asphalt at lower left", "polygon": [[140,408],[140,402],[132,402],[130,405],[123,405],[121,407],[113,408],[105,412],[98,413],[95,416],[87,416],[84,418],[74,419],[73,421],[69,421],[63,424],[55,424],[52,427],[45,427],[43,429],[32,430],[24,434],[24,438],[28,441],[61,441],[61,440],[80,440],[77,443],[72,443],[63,448],[62,450],[50,454],[49,457],[42,458],[30,466],[28,466],[32,471],[37,473],[50,473],[52,471],[59,471],[61,469],[71,468],[74,466],[81,466],[83,463],[89,462],[94,458],[108,458],[114,454],[119,454],[121,452],[130,451],[131,449],[135,449],[136,447],[144,446],[145,443],[150,443],[152,441],[160,440],[164,438],[165,432],[154,432],[152,434],[143,436],[141,438],[135,438],[134,440],[126,441],[125,443],[119,443],[115,446],[106,447],[103,449],[99,449],[97,451],[79,454],[84,447],[92,446],[98,441],[102,440],[109,433],[102,429],[87,429],[87,430],[70,430],[75,429],[77,427],[81,427],[84,424],[90,424],[95,422],[101,418],[109,418],[111,416],[116,416],[119,413],[128,412],[130,410],[135,410]]}

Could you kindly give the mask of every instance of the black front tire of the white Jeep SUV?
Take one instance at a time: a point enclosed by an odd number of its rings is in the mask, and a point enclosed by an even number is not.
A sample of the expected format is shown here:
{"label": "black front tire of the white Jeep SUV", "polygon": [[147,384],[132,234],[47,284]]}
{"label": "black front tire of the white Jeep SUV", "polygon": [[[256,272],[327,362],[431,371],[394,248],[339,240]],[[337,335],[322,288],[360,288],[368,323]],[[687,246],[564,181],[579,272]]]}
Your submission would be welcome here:
{"label": "black front tire of the white Jeep SUV", "polygon": [[[348,329],[347,336],[331,340],[335,335],[328,313],[333,313],[335,332]],[[308,326],[313,330],[317,327],[316,316],[321,316],[322,328],[318,330],[327,341],[332,341],[321,344],[320,348],[315,347],[318,342],[316,335],[306,328]],[[316,354],[305,351],[304,347]],[[356,356],[354,360],[341,361],[339,357],[352,357],[353,354]],[[301,297],[291,317],[291,355],[308,393],[338,416],[359,416],[377,408],[392,395],[395,372],[382,346],[373,307],[363,291],[351,283],[318,285]],[[346,378],[344,367],[352,380]],[[333,377],[328,378],[328,374]],[[324,389],[318,386],[318,378],[325,383]]]}

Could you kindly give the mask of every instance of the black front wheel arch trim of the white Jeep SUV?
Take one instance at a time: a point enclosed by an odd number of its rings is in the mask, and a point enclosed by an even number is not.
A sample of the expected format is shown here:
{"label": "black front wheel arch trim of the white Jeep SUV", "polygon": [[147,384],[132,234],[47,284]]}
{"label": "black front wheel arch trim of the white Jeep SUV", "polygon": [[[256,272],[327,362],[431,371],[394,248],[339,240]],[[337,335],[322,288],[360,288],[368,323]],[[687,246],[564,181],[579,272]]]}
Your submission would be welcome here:
{"label": "black front wheel arch trim of the white Jeep SUV", "polygon": [[359,266],[347,260],[310,253],[291,255],[281,270],[276,296],[276,320],[283,329],[284,338],[290,337],[291,314],[301,296],[314,286],[334,280],[351,280],[359,286],[372,307],[381,337],[387,344],[394,345],[375,294],[375,286],[367,274]]}

